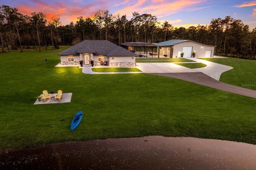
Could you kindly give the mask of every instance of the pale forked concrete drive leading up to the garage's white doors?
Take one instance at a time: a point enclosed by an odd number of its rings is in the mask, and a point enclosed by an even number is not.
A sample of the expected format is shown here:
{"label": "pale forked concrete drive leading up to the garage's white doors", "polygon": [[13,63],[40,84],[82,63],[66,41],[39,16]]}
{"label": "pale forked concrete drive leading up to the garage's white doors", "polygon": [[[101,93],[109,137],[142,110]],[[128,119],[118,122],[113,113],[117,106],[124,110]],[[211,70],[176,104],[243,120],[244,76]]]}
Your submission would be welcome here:
{"label": "pale forked concrete drive leading up to the garage's white doors", "polygon": [[[206,75],[209,75],[211,78],[213,78],[215,80],[220,80],[220,76],[223,72],[233,69],[233,67],[231,67],[231,66],[213,63],[213,62],[209,62],[209,61],[202,60],[199,58],[190,58],[190,60],[194,60],[198,63],[203,63],[203,64],[207,65],[205,67],[193,69],[193,70],[196,72],[202,72]],[[225,60],[225,59],[223,59],[223,60]]]}

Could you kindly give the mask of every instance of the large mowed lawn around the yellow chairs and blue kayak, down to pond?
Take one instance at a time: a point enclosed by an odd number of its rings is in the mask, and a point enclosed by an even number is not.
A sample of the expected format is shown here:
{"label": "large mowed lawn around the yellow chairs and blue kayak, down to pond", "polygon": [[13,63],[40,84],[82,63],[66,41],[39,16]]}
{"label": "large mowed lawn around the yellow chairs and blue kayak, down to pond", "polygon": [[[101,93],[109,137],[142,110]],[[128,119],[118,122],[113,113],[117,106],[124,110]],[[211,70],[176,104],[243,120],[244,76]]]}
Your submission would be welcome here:
{"label": "large mowed lawn around the yellow chairs and blue kayak, down to pond", "polygon": [[[0,149],[147,135],[256,144],[256,99],[144,73],[83,74],[54,67],[58,53],[0,54]],[[71,103],[33,105],[44,89],[73,92]]]}

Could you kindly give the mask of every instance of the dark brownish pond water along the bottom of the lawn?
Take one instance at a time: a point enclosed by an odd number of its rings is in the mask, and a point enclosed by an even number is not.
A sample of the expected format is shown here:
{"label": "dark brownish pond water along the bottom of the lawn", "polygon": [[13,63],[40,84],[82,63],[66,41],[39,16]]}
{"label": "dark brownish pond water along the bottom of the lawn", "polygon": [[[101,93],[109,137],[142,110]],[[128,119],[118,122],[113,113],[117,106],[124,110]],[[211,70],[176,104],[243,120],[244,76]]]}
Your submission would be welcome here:
{"label": "dark brownish pond water along the bottom of the lawn", "polygon": [[0,152],[0,169],[256,169],[256,145],[149,136]]}

